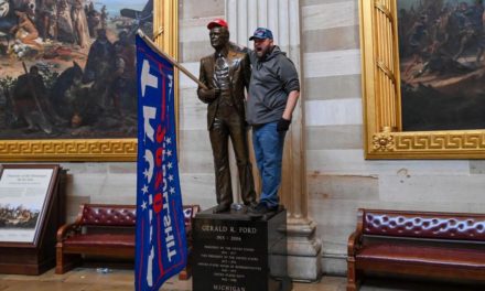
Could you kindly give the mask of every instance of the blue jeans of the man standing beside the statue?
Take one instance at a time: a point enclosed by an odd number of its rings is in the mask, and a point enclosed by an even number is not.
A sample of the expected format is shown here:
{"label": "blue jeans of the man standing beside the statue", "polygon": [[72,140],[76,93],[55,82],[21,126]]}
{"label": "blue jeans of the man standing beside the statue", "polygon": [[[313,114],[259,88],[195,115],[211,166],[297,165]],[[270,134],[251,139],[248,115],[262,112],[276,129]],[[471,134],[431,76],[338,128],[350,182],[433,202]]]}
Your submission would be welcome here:
{"label": "blue jeans of the man standing beside the statue", "polygon": [[252,127],[252,147],[262,181],[260,203],[268,208],[279,205],[278,188],[281,184],[281,163],[285,131],[277,131],[278,122]]}

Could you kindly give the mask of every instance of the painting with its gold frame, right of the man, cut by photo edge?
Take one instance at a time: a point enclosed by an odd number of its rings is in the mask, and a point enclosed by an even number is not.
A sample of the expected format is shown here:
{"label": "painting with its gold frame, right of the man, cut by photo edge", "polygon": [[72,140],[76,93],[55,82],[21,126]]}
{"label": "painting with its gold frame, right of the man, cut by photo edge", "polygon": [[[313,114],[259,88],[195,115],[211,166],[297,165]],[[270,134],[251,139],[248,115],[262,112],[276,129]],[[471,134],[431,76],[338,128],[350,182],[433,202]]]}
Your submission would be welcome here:
{"label": "painting with its gold frame, right of the man, cut by photo edge", "polygon": [[483,1],[359,9],[366,158],[485,158]]}

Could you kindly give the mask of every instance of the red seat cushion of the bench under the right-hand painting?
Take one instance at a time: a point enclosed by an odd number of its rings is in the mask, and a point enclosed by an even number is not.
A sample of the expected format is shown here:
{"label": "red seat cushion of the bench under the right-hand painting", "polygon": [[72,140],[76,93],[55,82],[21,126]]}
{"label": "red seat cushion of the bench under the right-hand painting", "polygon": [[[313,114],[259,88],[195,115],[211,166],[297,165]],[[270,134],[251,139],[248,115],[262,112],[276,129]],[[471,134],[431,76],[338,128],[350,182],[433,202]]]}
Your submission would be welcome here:
{"label": "red seat cushion of the bench under the right-hand painting", "polygon": [[429,266],[460,266],[485,271],[485,251],[402,242],[381,242],[363,247],[356,255],[358,261],[400,261]]}

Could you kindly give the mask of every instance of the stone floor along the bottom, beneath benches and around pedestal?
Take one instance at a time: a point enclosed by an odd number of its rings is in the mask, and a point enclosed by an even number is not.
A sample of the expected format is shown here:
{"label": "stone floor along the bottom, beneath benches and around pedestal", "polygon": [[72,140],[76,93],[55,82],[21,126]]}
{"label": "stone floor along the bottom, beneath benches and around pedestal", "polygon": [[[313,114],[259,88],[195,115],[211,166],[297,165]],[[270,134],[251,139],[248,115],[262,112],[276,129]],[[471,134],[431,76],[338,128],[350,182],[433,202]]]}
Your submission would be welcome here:
{"label": "stone floor along the bottom, beneath benches and around pedestal", "polygon": [[[190,291],[192,281],[171,279],[162,291]],[[293,291],[344,291],[346,278],[323,277],[316,283],[294,283]],[[133,270],[110,269],[100,273],[96,268],[77,268],[65,274],[55,274],[50,270],[41,276],[0,274],[0,291],[131,291],[133,290]],[[366,281],[362,291],[467,291],[485,290],[485,287],[456,285],[450,283],[430,283],[409,280],[373,279]],[[207,290],[209,291],[209,290]],[[258,291],[258,290],[251,290]]]}

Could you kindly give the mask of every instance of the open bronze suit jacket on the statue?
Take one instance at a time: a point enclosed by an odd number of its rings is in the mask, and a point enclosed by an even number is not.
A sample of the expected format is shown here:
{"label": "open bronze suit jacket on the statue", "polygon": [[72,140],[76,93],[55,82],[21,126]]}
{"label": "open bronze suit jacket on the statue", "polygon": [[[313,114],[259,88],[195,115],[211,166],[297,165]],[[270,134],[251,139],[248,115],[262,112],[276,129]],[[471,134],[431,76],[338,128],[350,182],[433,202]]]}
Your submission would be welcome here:
{"label": "open bronze suit jacket on the statue", "polygon": [[[230,96],[237,112],[242,120],[245,120],[245,87],[246,89],[248,88],[251,77],[249,56],[237,45],[229,44],[229,50],[225,58],[229,65]],[[201,58],[201,73],[198,75],[198,79],[211,89],[208,91],[202,90],[202,87],[197,89],[198,99],[207,104],[207,129],[211,129],[214,123],[220,99],[216,98],[214,90],[212,90],[217,87],[214,79],[215,62],[215,54]]]}

